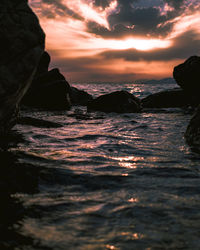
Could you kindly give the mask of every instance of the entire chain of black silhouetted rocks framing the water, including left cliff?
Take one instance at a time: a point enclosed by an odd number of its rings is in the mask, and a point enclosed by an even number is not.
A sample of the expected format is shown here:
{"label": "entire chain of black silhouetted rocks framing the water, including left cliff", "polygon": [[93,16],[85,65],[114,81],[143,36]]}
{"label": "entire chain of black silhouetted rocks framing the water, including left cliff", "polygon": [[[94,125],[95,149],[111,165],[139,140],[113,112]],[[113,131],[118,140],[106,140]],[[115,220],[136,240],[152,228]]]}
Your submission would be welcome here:
{"label": "entire chain of black silhouetted rocks framing the water, including left cliff", "polygon": [[[117,113],[141,112],[148,108],[198,107],[200,57],[192,56],[174,68],[173,76],[178,84],[175,89],[151,94],[141,100],[123,90],[93,98],[87,92],[70,86],[59,69],[49,70],[51,58],[44,51],[45,35],[27,1],[20,0],[14,4],[11,0],[3,0],[0,5],[5,12],[0,60],[2,135],[17,122],[38,124],[38,121],[19,118],[19,105],[21,109],[42,110],[69,110],[72,105],[83,105],[88,111]],[[13,12],[23,22],[16,23]],[[14,31],[12,35],[8,36],[7,29]],[[200,108],[188,125],[185,138],[191,146],[200,147]]]}

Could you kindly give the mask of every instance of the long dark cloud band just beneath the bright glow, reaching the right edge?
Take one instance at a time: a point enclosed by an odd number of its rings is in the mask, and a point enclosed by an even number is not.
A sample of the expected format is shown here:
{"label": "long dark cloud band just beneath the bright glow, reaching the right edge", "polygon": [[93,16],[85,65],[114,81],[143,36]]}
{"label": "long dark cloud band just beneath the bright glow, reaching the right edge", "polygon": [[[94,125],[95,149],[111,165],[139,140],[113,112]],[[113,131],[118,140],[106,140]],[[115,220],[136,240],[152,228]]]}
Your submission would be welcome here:
{"label": "long dark cloud band just beneath the bright glow, reaching the right edge", "polygon": [[188,31],[177,37],[173,43],[173,46],[170,48],[154,49],[150,51],[138,51],[136,49],[108,51],[102,53],[101,55],[104,59],[124,59],[126,61],[151,62],[185,59],[191,55],[200,53],[200,40],[197,38],[197,34],[193,31]]}

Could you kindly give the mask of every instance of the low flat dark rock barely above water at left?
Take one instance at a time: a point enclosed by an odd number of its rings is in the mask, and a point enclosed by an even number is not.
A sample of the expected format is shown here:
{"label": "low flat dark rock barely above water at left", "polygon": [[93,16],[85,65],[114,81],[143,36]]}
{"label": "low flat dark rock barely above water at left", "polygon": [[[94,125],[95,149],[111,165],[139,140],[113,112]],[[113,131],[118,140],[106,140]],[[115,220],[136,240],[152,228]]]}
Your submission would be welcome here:
{"label": "low flat dark rock barely above water at left", "polygon": [[28,116],[20,117],[17,123],[20,125],[29,125],[29,126],[39,127],[39,128],[61,128],[63,127],[59,123],[50,122],[50,121],[46,121],[43,119],[36,119],[33,117],[28,117]]}

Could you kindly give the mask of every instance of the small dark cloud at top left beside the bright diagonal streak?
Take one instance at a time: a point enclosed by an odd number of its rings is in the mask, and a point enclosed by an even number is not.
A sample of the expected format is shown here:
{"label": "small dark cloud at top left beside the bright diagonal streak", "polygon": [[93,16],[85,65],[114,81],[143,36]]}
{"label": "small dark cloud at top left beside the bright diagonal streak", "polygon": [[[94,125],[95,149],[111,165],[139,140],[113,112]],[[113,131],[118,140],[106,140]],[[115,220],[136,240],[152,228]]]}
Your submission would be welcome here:
{"label": "small dark cloud at top left beside the bright diagonal streak", "polygon": [[41,0],[41,2],[51,7],[51,9],[41,8],[42,16],[44,17],[55,18],[58,15],[83,20],[82,16],[64,5],[61,0]]}

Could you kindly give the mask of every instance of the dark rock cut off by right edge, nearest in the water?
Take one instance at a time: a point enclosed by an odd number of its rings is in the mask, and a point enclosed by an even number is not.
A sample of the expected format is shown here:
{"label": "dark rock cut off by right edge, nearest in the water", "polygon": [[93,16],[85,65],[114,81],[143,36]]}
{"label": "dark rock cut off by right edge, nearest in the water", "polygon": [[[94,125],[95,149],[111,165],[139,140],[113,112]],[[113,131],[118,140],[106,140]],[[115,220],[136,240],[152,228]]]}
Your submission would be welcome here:
{"label": "dark rock cut off by right edge, nearest in the water", "polygon": [[200,149],[200,106],[187,127],[185,138],[189,145]]}

